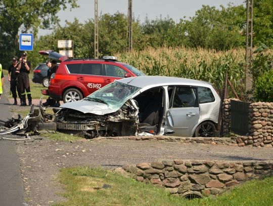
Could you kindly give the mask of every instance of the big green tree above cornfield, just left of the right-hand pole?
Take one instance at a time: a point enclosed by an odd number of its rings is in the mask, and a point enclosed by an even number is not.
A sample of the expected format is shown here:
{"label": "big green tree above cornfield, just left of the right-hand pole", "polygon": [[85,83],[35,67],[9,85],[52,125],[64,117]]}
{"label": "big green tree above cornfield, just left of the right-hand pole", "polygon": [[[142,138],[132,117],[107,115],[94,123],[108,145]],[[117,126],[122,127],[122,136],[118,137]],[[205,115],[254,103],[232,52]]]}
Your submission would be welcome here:
{"label": "big green tree above cornfield, just left of the right-hand pole", "polygon": [[190,20],[184,20],[189,46],[216,50],[228,50],[242,46],[245,37],[244,7],[228,5],[215,7],[204,6]]}

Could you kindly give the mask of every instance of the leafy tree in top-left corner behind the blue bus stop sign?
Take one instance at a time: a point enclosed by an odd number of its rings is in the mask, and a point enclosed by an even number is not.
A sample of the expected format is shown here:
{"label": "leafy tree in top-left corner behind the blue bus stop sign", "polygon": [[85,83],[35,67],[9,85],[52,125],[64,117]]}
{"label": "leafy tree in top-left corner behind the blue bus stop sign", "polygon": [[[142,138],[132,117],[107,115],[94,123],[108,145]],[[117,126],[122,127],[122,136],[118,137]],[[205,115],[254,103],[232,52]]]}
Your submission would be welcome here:
{"label": "leafy tree in top-left corner behind the blue bus stop sign", "polygon": [[51,28],[59,21],[61,9],[77,7],[77,0],[2,0],[0,1],[0,54],[4,67],[12,56],[19,54],[18,32],[32,32]]}

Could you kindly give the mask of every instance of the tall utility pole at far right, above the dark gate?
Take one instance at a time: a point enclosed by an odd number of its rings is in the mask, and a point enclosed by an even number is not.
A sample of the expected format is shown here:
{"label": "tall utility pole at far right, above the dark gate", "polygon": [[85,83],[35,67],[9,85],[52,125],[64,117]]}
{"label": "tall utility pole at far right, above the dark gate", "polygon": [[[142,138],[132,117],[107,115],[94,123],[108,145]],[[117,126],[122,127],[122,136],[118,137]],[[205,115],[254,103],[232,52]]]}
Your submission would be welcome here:
{"label": "tall utility pole at far right, above the dark gate", "polygon": [[247,0],[247,27],[246,27],[246,91],[252,89],[252,75],[250,73],[252,53],[253,53],[253,2],[254,0]]}

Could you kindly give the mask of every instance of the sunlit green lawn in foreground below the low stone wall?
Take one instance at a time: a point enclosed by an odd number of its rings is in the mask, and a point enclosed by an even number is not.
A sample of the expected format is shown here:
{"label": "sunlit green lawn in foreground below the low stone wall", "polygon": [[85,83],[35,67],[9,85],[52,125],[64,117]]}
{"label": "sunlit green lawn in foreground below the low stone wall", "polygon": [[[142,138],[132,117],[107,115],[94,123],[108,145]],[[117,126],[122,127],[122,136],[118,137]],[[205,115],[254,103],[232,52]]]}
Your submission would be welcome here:
{"label": "sunlit green lawn in foreground below the low stone wall", "polygon": [[[63,183],[68,199],[54,205],[272,205],[273,177],[252,180],[218,197],[187,200],[170,195],[163,188],[124,178],[103,169],[62,169],[59,181]],[[104,184],[111,188],[101,188]]]}

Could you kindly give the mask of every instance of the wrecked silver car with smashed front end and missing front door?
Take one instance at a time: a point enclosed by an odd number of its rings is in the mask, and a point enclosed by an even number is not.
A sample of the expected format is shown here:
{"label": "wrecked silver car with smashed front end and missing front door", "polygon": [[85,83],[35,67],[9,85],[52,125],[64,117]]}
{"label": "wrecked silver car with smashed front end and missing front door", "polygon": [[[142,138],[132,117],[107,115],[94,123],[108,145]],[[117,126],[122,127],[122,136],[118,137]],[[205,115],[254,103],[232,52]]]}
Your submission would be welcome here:
{"label": "wrecked silver car with smashed front end and missing front door", "polygon": [[59,130],[84,131],[89,138],[139,133],[212,137],[219,106],[218,94],[204,81],[138,76],[63,104],[53,120]]}

